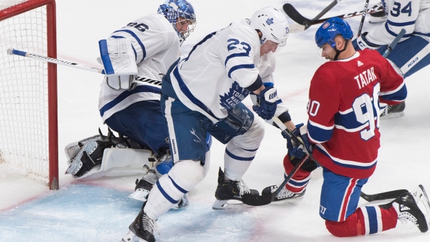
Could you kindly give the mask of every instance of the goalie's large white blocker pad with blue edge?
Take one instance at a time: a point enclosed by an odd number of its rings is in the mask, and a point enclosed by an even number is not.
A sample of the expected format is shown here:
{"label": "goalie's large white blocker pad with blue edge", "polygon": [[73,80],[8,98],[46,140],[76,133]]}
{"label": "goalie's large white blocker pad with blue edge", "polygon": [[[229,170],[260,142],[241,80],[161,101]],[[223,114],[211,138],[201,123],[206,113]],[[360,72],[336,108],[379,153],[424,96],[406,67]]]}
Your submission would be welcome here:
{"label": "goalie's large white blocker pad with blue edge", "polygon": [[126,38],[98,42],[107,85],[114,90],[130,90],[135,85],[137,64],[130,40]]}

